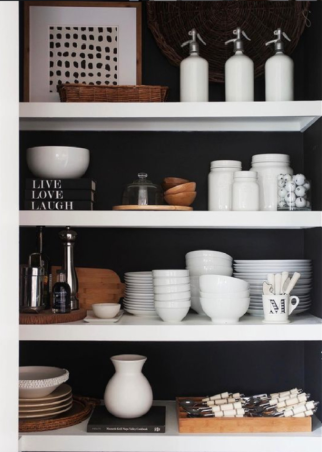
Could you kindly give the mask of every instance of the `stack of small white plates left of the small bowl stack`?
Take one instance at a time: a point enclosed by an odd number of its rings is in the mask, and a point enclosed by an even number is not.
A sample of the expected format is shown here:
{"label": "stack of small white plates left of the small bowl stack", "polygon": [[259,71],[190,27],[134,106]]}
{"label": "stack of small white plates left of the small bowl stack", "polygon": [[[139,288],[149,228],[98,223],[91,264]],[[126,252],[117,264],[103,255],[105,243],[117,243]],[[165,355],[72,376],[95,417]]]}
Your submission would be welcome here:
{"label": "stack of small white plates left of the small bowl stack", "polygon": [[152,272],[128,272],[124,279],[124,310],[140,317],[158,316],[154,309]]}

